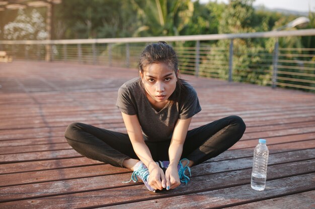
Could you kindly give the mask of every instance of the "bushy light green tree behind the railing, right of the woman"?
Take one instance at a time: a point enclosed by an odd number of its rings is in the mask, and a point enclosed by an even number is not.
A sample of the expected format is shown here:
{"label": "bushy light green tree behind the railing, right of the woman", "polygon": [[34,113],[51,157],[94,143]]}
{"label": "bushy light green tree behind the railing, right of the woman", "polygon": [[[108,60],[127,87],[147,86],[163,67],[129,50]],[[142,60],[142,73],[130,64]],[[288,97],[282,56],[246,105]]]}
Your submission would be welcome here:
{"label": "bushy light green tree behind the railing, right of the woman", "polygon": [[[230,1],[224,8],[219,18],[219,33],[249,33],[256,30],[268,30],[268,17],[257,17],[251,0]],[[264,20],[261,28],[256,28],[258,20]],[[233,81],[266,83],[270,75],[265,74],[264,66],[266,52],[264,41],[253,41],[251,39],[233,40]],[[221,40],[212,45],[208,52],[207,59],[200,65],[200,71],[210,77],[226,80],[228,78],[229,62],[229,40]],[[213,63],[218,63],[213,66]],[[210,68],[208,66],[211,66]],[[215,68],[213,72],[212,68]]]}

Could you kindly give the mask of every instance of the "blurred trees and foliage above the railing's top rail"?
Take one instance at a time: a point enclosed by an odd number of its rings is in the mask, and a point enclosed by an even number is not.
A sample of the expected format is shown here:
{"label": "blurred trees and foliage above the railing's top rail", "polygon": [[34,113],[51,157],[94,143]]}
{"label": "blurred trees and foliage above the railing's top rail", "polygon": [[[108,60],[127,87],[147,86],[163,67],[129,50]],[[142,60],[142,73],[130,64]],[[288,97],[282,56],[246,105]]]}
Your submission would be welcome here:
{"label": "blurred trees and foliage above the railing's top rail", "polygon": [[[198,0],[63,0],[54,5],[52,39],[266,32],[298,17],[254,9],[253,2],[232,0],[226,5],[201,4]],[[45,39],[45,13],[45,8],[1,11],[1,40]],[[306,28],[315,27],[314,15],[309,12]],[[314,46],[310,38],[300,44]]]}

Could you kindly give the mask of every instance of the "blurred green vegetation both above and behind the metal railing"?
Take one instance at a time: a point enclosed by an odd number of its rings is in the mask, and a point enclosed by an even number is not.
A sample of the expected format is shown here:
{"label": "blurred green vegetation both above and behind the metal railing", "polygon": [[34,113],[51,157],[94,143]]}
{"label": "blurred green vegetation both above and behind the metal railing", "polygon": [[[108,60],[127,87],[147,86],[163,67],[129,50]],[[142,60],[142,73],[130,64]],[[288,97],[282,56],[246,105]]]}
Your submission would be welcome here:
{"label": "blurred green vegetation both above and behind the metal railing", "polygon": [[[201,4],[198,0],[63,0],[53,9],[52,39],[267,32],[299,17],[294,14],[268,11],[265,8],[254,8],[253,3],[254,0],[231,0],[228,4],[217,2]],[[45,40],[47,37],[45,13],[45,8],[0,12],[0,40]],[[315,13],[309,11],[307,18],[310,22],[305,28],[315,28]],[[276,39],[268,38],[233,40],[235,74],[233,80],[267,85],[272,75],[263,71],[266,70],[264,66],[268,65],[268,69],[272,67],[270,54],[274,50],[275,41]],[[196,45],[195,42],[172,44],[178,48]],[[212,50],[204,54],[207,59],[200,63],[201,74],[207,71],[205,76],[211,77],[211,70],[209,71],[211,64],[228,63],[228,51],[220,51],[226,49],[228,45],[228,40],[202,41],[202,47]],[[299,59],[309,63],[305,71],[308,74],[307,70],[315,67],[315,56],[309,56],[315,55],[315,50],[303,50],[303,48],[314,48],[314,46],[314,36],[279,39],[280,50],[292,49],[292,54],[307,54]],[[186,64],[189,63],[181,60],[182,66]],[[292,63],[292,66],[294,65],[296,64]],[[251,70],[253,68],[256,70]],[[294,69],[289,71],[294,72]],[[315,71],[311,74],[315,75]],[[216,68],[214,77],[227,79],[227,66]],[[300,79],[298,75],[291,77]],[[307,84],[312,88],[315,87],[314,78],[315,76],[312,76],[311,83]]]}

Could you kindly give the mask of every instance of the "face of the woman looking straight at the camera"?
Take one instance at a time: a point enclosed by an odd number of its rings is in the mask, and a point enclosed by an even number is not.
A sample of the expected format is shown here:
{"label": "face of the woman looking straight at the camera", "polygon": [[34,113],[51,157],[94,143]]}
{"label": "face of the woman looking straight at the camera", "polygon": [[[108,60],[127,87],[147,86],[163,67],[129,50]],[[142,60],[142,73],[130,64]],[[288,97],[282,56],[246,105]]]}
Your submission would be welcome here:
{"label": "face of the woman looking straight at the camera", "polygon": [[163,108],[176,88],[177,77],[173,69],[164,63],[149,65],[140,71],[146,96],[153,106]]}

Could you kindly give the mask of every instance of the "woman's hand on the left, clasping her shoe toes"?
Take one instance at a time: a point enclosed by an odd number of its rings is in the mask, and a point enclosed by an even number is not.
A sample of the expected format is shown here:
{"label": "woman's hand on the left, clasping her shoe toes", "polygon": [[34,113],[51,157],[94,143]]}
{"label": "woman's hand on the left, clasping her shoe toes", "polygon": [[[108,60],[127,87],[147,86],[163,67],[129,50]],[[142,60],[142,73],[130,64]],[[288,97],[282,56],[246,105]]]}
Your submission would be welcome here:
{"label": "woman's hand on the left, clasping her shoe toes", "polygon": [[[155,164],[155,163],[154,163]],[[159,165],[151,165],[149,167],[149,179],[148,183],[149,185],[154,189],[162,190],[163,188],[166,188],[166,179],[164,172],[162,168],[160,168]]]}

